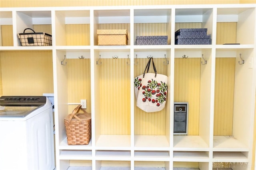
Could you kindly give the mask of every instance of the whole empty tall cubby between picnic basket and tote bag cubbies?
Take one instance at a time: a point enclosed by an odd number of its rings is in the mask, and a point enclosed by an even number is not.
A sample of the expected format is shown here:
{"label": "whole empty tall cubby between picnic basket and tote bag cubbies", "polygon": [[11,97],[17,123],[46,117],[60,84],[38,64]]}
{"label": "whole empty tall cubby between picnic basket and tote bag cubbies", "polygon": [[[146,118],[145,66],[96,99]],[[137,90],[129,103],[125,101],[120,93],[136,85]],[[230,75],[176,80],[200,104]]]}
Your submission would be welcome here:
{"label": "whole empty tall cubby between picnic basket and tote bag cubbies", "polygon": [[96,147],[130,147],[130,51],[94,50]]}

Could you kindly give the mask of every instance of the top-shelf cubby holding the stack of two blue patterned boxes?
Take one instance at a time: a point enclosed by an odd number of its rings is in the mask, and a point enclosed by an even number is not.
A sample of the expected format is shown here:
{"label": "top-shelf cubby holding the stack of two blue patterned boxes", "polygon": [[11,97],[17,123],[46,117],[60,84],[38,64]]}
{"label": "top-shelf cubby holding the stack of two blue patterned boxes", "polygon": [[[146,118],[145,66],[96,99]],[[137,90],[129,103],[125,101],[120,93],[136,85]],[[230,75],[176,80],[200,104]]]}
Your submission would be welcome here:
{"label": "top-shelf cubby holding the stack of two blue patterned boxes", "polygon": [[[181,28],[206,28],[207,32],[206,35],[210,35],[210,41],[207,40],[210,44],[212,44],[212,36],[213,36],[213,9],[212,8],[178,8],[175,10],[175,32],[178,31]],[[199,34],[200,35],[200,34]],[[172,35],[174,36],[174,35]],[[181,36],[181,35],[179,35]],[[191,44],[192,40],[191,39],[196,39],[193,40],[194,45],[204,45],[204,44],[209,44],[206,43],[206,40],[203,40],[202,42],[201,39],[204,38],[205,36],[198,37],[198,35],[191,35],[188,36],[182,36],[178,37],[175,36],[173,44],[178,44],[177,41],[180,39],[185,39],[185,43],[182,43],[184,45],[186,44]],[[200,39],[200,40],[199,40]],[[214,39],[214,38],[213,38]],[[183,41],[183,40],[182,40]],[[197,43],[196,43],[197,42]]]}

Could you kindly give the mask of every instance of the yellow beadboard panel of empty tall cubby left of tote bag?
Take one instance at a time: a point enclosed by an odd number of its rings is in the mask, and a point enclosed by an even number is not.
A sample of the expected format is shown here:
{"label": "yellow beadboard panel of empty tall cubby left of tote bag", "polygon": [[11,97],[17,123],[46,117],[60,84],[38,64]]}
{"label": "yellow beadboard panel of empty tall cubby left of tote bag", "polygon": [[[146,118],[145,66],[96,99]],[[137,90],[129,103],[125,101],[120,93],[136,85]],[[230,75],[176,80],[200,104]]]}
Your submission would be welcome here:
{"label": "yellow beadboard panel of empty tall cubby left of tote bag", "polygon": [[102,135],[130,135],[130,66],[127,59],[101,59],[100,123]]}

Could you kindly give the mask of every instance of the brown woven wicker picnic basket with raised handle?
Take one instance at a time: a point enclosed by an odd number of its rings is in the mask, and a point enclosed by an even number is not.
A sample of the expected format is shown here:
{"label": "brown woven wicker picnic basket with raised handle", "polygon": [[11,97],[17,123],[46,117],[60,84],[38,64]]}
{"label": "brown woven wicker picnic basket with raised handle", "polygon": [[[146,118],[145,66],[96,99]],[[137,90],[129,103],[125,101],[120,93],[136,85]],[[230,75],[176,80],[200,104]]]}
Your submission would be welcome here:
{"label": "brown woven wicker picnic basket with raised handle", "polygon": [[71,114],[64,119],[68,145],[88,145],[91,139],[91,114],[78,113],[81,105],[78,105]]}

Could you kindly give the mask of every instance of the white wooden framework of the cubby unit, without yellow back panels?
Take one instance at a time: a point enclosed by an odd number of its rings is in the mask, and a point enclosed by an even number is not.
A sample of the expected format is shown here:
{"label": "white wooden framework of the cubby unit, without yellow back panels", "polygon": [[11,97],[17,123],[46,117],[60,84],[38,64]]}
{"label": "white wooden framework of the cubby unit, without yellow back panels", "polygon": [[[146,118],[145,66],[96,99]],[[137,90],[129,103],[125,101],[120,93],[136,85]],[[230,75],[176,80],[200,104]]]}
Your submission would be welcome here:
{"label": "white wooden framework of the cubby unit, without yellow back panels", "polygon": [[[200,22],[208,28],[211,45],[175,45],[175,23]],[[237,22],[235,45],[216,44],[217,22]],[[1,25],[13,25],[13,46],[1,46],[0,51],[52,51],[54,76],[56,170],[72,169],[71,160],[84,160],[88,169],[100,170],[104,164],[119,164],[134,170],[138,165],[158,162],[172,170],[174,162],[198,162],[200,170],[211,170],[214,163],[237,163],[233,170],[250,170],[252,166],[254,104],[256,89],[256,4],[166,5],[166,6],[91,6],[50,8],[0,8]],[[66,24],[90,24],[90,45],[66,45]],[[128,45],[98,46],[96,30],[102,23],[128,23]],[[166,23],[168,45],[136,45],[137,23]],[[35,24],[52,25],[52,46],[21,47],[17,33]],[[146,28],[145,28],[146,29]],[[174,58],[184,53],[200,58],[201,65],[200,119],[198,135],[173,135]],[[96,89],[99,55],[111,58],[148,55],[166,58],[168,102],[166,104],[165,135],[134,134],[134,64],[130,65],[130,133],[102,135],[100,132],[101,94]],[[234,113],[232,136],[214,136],[215,59],[226,55],[236,58]],[[244,64],[239,64],[242,54]],[[64,117],[68,110],[67,68],[61,64],[70,55],[90,59],[92,139],[89,145],[67,145]],[[162,56],[162,57],[161,57]],[[201,61],[203,61],[201,59]],[[156,163],[156,167],[159,165]],[[154,167],[154,163],[152,164]],[[114,167],[112,167],[114,169]],[[157,168],[156,168],[157,169]]]}

